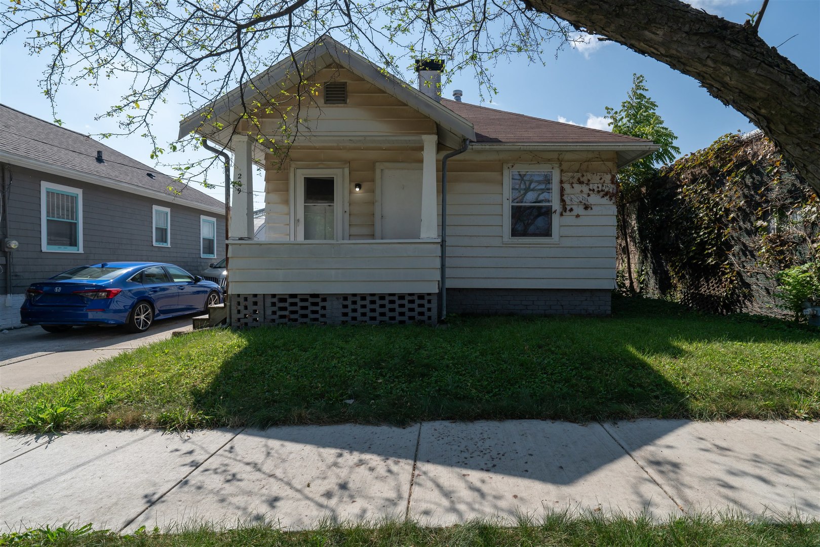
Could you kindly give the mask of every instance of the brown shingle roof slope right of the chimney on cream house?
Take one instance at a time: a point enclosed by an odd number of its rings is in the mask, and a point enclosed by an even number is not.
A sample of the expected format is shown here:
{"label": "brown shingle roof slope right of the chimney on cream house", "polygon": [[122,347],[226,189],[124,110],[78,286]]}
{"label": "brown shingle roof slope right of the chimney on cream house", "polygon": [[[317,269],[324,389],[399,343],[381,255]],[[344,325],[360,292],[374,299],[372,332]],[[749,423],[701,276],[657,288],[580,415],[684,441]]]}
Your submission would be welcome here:
{"label": "brown shingle roof slope right of the chimney on cream house", "polygon": [[651,143],[625,134],[611,133],[580,125],[542,120],[515,112],[504,112],[475,104],[460,103],[446,98],[441,104],[472,122],[476,128],[476,143],[585,143],[625,144]]}

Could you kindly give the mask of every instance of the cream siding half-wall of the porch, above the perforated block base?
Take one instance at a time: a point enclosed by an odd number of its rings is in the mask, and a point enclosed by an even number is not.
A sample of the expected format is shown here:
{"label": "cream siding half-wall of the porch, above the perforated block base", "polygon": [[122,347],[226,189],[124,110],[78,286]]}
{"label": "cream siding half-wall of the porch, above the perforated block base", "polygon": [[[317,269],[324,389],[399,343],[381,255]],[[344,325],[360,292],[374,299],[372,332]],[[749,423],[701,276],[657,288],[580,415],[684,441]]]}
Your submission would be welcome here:
{"label": "cream siding half-wall of the porch, above the perforated block base", "polygon": [[231,294],[436,293],[438,241],[230,244]]}

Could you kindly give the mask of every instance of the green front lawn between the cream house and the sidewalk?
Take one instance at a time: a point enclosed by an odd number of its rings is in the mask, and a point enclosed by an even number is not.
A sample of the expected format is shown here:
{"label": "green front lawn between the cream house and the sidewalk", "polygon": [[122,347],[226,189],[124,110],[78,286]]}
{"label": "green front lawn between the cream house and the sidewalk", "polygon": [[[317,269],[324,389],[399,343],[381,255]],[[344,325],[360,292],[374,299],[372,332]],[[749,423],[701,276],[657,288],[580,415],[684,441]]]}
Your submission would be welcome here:
{"label": "green front lawn between the cream house and the sidewalk", "polygon": [[0,428],[820,418],[820,330],[644,299],[613,308],[200,331],[3,393]]}

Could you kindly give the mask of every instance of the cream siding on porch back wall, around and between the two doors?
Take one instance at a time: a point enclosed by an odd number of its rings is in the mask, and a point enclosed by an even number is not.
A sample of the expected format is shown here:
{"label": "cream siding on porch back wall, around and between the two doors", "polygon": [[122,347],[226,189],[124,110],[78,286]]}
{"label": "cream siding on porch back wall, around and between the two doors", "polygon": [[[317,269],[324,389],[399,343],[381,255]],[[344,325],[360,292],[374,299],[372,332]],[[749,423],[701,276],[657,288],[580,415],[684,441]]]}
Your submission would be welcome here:
{"label": "cream siding on porch back wall, around and between the two doors", "polygon": [[[277,158],[269,154],[266,157],[266,204],[265,204],[265,239],[268,241],[286,240],[290,238],[290,198],[289,176],[292,162],[299,166],[334,167],[340,163],[348,165],[350,185],[349,239],[373,239],[374,220],[373,202],[375,196],[374,180],[376,177],[376,162],[408,162],[420,164],[421,145],[404,147],[359,148],[291,148],[290,160],[280,166]],[[356,184],[362,185],[362,190],[355,190]]]}

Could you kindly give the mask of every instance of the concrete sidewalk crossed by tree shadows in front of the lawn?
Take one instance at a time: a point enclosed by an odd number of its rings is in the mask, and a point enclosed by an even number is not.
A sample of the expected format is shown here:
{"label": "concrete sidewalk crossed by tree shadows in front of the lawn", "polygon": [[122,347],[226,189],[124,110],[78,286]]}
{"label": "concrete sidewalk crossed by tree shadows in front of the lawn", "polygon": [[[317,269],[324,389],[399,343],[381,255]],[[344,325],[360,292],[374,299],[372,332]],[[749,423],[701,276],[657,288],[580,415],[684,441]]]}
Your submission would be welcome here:
{"label": "concrete sidewalk crossed by tree shadows in front of the lawn", "polygon": [[0,437],[5,529],[446,525],[573,508],[820,518],[820,423],[425,422]]}

